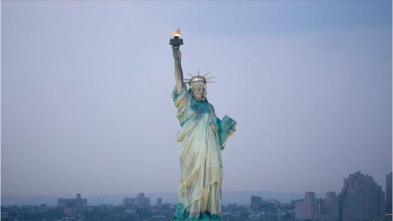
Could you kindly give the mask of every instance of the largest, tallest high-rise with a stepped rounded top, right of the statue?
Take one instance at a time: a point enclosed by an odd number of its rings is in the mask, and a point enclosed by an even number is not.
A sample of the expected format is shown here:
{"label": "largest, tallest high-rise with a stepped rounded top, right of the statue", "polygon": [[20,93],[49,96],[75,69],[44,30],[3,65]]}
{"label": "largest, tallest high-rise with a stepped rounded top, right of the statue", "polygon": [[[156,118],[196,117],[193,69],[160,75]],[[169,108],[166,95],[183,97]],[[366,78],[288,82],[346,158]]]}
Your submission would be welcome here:
{"label": "largest, tallest high-rise with a stepped rounded top, right of the statue", "polygon": [[384,221],[385,193],[373,177],[356,172],[344,178],[340,207],[342,221]]}

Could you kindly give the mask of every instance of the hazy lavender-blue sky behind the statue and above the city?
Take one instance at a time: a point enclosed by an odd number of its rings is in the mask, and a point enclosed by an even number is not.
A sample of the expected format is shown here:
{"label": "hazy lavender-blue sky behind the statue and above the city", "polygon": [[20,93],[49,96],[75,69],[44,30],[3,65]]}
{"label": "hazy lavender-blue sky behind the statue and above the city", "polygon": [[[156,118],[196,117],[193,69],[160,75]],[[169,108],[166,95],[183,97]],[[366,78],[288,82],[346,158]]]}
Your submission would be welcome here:
{"label": "hazy lavender-blue sky behind the statue and above the city", "polygon": [[1,1],[1,194],[175,192],[169,39],[237,131],[222,189],[392,171],[392,1]]}

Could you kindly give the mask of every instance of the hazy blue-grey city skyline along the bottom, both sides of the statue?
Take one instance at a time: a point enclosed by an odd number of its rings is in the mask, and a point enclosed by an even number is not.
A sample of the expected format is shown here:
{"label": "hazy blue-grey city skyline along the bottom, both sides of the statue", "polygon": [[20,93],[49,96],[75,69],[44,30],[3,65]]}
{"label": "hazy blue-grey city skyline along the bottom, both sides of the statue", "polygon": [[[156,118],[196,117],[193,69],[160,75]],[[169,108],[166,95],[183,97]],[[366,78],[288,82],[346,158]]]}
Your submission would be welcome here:
{"label": "hazy blue-grey city skyline along the bottom, both sides of the statue", "polygon": [[[306,192],[302,199],[283,202],[273,198],[262,198],[249,195],[248,203],[229,203],[222,205],[223,220],[226,221],[389,221],[392,220],[392,208],[387,205],[392,198],[392,173],[386,176],[387,199],[385,192],[375,180],[360,172],[350,174],[344,178],[344,185],[340,193],[328,191],[325,197],[317,197],[315,192]],[[264,196],[266,197],[266,196]],[[251,201],[250,201],[251,199]],[[240,200],[240,199],[238,199]],[[42,220],[60,218],[67,215],[67,220],[78,218],[80,221],[96,220],[151,220],[161,221],[171,219],[176,209],[174,204],[162,204],[162,198],[151,205],[151,196],[139,192],[135,197],[123,197],[122,203],[106,203],[91,205],[81,193],[76,198],[58,198],[57,206],[48,204],[40,206],[5,206],[2,201],[1,219],[14,220],[15,217],[28,220]],[[101,211],[101,212],[100,212]],[[112,217],[112,218],[108,218]],[[128,217],[128,218],[127,218]],[[64,219],[63,219],[64,220]]]}

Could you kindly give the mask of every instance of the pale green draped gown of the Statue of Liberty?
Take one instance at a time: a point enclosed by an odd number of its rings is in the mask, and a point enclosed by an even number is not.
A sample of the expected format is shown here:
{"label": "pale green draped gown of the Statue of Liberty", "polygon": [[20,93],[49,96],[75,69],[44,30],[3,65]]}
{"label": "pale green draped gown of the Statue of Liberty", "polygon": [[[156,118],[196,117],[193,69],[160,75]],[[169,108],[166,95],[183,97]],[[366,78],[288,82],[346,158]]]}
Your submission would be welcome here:
{"label": "pale green draped gown of the Statue of Liberty", "polygon": [[181,178],[173,220],[220,220],[222,160],[218,140],[218,118],[206,100],[198,101],[185,84],[173,91],[181,129]]}

